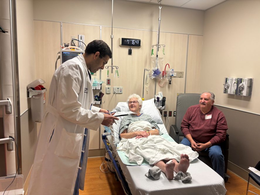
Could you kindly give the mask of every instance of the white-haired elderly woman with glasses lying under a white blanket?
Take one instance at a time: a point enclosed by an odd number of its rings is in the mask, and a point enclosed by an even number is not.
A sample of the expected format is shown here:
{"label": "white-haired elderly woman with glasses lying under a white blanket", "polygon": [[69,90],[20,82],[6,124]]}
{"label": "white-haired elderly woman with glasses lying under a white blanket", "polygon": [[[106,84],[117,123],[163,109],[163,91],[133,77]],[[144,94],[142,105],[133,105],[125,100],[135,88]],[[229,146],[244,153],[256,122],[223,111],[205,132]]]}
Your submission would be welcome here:
{"label": "white-haired elderly woman with glasses lying under a white blanket", "polygon": [[[119,128],[121,141],[118,149],[125,150],[127,153],[132,148],[132,151],[128,153],[129,159],[140,165],[143,160],[140,159],[140,156],[142,156],[150,165],[154,165],[146,176],[159,179],[160,171],[162,171],[166,174],[167,179],[172,180],[175,171],[178,173],[175,178],[184,175],[186,181],[190,181],[191,177],[187,170],[190,161],[197,158],[198,153],[182,144],[169,142],[161,136],[156,136],[162,135],[162,133],[151,116],[140,113],[142,99],[139,95],[130,95],[127,103],[129,110],[134,114],[129,114],[122,119]],[[181,152],[186,154],[181,154]]]}

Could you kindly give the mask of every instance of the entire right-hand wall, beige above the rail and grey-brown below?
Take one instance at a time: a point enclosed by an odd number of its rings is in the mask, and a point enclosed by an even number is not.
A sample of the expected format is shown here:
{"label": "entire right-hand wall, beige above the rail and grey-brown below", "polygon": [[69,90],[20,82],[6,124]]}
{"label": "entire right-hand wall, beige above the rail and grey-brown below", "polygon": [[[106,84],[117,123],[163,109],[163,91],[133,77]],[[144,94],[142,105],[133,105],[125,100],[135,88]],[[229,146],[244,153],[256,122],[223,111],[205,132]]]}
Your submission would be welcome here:
{"label": "entire right-hand wall, beige above the rail and grey-brown below", "polygon": [[[213,91],[227,118],[228,169],[247,179],[260,159],[260,1],[227,0],[205,11],[200,91]],[[254,78],[251,97],[223,94],[224,77]]]}

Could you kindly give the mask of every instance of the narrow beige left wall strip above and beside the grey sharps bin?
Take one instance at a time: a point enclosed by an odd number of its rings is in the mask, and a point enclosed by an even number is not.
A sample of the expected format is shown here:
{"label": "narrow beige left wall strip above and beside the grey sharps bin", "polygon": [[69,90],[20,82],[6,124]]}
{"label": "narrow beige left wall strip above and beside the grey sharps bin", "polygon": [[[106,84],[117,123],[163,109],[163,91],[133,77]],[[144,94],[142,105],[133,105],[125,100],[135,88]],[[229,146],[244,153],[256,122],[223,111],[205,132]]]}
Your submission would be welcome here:
{"label": "narrow beige left wall strip above and beside the grey sharps bin", "polygon": [[28,109],[27,85],[36,79],[34,63],[33,0],[16,1],[20,113]]}

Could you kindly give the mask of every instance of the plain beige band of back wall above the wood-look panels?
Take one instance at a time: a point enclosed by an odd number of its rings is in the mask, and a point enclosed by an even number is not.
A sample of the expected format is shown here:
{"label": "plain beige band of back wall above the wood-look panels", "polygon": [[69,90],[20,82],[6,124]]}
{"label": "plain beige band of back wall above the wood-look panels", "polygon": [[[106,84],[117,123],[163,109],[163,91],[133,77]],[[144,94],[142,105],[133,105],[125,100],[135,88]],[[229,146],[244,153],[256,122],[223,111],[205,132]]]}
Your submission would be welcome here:
{"label": "plain beige band of back wall above the wood-look panels", "polygon": [[[35,20],[111,26],[112,0],[34,0],[33,3]],[[157,31],[158,18],[159,5],[114,0],[113,27]],[[203,19],[201,10],[162,6],[160,30],[202,35]]]}

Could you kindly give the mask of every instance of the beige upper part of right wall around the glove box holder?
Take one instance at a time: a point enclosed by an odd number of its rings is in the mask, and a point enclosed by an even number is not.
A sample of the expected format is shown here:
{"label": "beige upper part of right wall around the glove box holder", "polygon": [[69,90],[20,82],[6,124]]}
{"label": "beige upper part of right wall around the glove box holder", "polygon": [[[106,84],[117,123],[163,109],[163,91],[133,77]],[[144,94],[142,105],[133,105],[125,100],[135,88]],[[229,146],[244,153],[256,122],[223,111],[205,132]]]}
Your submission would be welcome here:
{"label": "beige upper part of right wall around the glove box holder", "polygon": [[[260,1],[228,0],[205,12],[200,91],[215,104],[260,113]],[[254,78],[251,97],[223,94],[224,77]]]}

